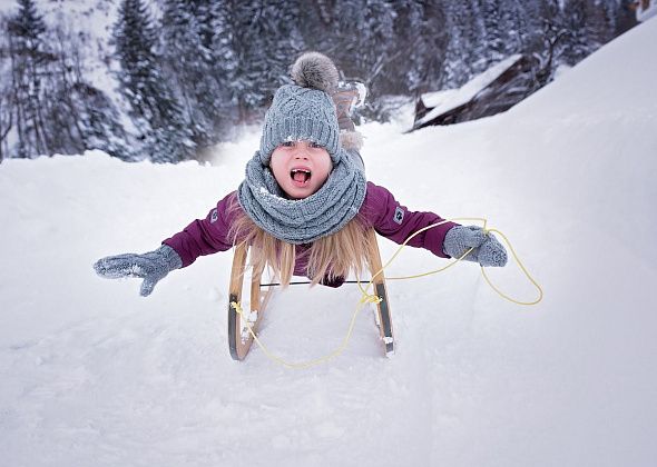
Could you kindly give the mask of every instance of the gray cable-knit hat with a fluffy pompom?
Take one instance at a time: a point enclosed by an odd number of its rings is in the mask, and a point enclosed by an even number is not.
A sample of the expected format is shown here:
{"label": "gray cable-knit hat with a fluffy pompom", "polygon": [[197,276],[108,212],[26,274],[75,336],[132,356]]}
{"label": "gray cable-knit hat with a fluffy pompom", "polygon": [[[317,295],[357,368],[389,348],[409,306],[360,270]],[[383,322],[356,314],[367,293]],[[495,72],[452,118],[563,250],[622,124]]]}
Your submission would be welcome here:
{"label": "gray cable-knit hat with a fluffy pompom", "polygon": [[308,140],[329,151],[333,165],[340,162],[340,129],[331,92],[337,86],[337,69],[318,52],[302,54],[292,66],[296,85],[284,85],[274,95],[265,115],[259,157],[268,166],[272,151],[284,141]]}

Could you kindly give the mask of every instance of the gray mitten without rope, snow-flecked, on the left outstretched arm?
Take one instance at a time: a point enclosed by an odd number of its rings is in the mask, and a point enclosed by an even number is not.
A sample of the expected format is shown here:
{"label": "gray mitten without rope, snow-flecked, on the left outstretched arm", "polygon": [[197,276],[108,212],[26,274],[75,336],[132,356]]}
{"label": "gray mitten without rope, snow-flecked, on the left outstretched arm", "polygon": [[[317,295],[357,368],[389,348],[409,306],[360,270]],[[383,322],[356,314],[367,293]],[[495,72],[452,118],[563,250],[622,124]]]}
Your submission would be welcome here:
{"label": "gray mitten without rope, snow-flecked, on the left outstretched arm", "polygon": [[144,255],[117,255],[99,259],[94,264],[98,276],[108,279],[138,277],[141,282],[141,297],[149,296],[155,285],[174,269],[183,267],[183,260],[168,245]]}

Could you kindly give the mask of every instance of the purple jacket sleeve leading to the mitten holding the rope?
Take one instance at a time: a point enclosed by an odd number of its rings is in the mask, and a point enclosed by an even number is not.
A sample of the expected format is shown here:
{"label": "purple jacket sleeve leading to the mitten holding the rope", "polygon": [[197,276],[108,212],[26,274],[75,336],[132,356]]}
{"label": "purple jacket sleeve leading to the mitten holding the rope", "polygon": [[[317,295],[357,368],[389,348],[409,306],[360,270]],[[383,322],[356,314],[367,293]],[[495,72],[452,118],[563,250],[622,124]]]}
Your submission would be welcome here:
{"label": "purple jacket sleeve leading to the mitten holding the rope", "polygon": [[[411,211],[394,199],[385,188],[367,182],[364,208],[361,212],[372,223],[374,230],[395,244],[403,244],[411,235],[422,229],[443,221],[444,219],[433,212]],[[432,227],[414,237],[408,245],[424,248],[441,258],[450,258],[442,250],[444,236],[454,222],[444,222]]]}

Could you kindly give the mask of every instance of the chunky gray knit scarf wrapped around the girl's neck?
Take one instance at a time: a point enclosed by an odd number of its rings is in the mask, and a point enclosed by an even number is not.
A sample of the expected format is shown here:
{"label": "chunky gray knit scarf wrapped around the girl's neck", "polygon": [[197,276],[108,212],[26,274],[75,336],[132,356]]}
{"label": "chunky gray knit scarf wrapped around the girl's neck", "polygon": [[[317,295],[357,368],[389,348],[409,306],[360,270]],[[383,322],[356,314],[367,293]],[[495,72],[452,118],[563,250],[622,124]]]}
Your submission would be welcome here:
{"label": "chunky gray knit scarf wrapped around the girl's neck", "polygon": [[258,227],[288,244],[308,244],[335,234],[356,216],[366,191],[363,171],[350,156],[341,156],[322,188],[307,198],[293,200],[285,198],[256,151],[237,190],[239,205]]}

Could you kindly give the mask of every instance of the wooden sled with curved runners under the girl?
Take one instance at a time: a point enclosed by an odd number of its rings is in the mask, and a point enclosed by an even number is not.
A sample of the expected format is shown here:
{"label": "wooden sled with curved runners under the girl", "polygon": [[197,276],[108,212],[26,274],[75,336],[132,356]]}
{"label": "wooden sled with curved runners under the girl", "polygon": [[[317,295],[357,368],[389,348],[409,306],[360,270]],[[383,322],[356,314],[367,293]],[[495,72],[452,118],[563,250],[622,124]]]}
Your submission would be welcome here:
{"label": "wooden sled with curved runners under the girl", "polygon": [[[376,234],[374,232],[374,229],[371,229],[367,232],[367,236],[370,236],[371,246],[370,251],[367,252],[367,266],[373,276],[382,268],[381,254],[379,251],[379,244],[376,241]],[[231,357],[233,357],[235,360],[244,360],[253,344],[253,336],[248,331],[245,318],[248,319],[253,331],[257,334],[258,325],[263,318],[267,301],[272,294],[272,286],[261,285],[263,271],[254,270],[252,272],[249,286],[251,306],[248,310],[243,310],[244,315],[248,315],[244,318],[239,315],[234,304],[239,304],[239,306],[242,306],[245,276],[244,272],[246,269],[247,256],[247,245],[242,244],[235,247],[228,294],[228,347],[231,349]],[[388,290],[385,288],[385,277],[383,272],[379,274],[374,278],[372,287],[374,287],[374,295],[381,299],[381,301],[376,304],[376,325],[379,326],[379,332],[383,342],[385,356],[391,356],[394,354],[394,337],[392,331],[392,319],[390,314],[390,304],[388,300]]]}

